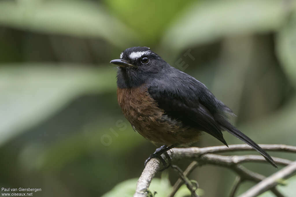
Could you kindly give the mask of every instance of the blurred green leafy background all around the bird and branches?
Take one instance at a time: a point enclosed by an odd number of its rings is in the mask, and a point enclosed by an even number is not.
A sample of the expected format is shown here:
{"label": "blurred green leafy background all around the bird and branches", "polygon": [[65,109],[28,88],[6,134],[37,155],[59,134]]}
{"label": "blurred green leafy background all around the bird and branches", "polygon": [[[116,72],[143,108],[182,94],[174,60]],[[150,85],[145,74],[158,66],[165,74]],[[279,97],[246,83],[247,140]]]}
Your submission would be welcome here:
{"label": "blurred green leafy background all around the bird and branches", "polygon": [[[109,62],[131,46],[149,46],[205,83],[254,141],[295,146],[295,36],[292,0],[1,0],[0,186],[40,187],[46,197],[131,196],[155,149],[117,104]],[[210,135],[197,144],[214,145],[221,143]],[[276,171],[246,166],[266,176]],[[169,179],[152,181],[156,196],[167,195],[178,178],[168,171]],[[190,179],[207,197],[229,195],[234,177],[206,166]],[[287,181],[278,188],[293,196],[295,176]],[[182,186],[176,196],[186,195]]]}

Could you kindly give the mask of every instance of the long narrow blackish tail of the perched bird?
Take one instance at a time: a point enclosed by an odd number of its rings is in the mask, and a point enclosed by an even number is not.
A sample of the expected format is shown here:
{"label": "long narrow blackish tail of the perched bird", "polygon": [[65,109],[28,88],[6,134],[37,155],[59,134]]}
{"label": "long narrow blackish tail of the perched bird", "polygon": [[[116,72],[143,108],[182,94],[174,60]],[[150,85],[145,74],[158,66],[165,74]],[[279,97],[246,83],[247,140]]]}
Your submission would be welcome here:
{"label": "long narrow blackish tail of the perched bird", "polygon": [[226,120],[223,117],[220,117],[219,120],[217,120],[217,122],[219,122],[222,130],[228,131],[235,137],[239,138],[240,140],[250,145],[256,151],[258,151],[266,159],[266,161],[268,161],[271,165],[277,168],[274,160],[271,158],[271,156],[268,153],[266,153],[266,151],[264,151],[258,144],[252,141],[247,135],[244,135],[240,130],[234,127],[228,120]]}

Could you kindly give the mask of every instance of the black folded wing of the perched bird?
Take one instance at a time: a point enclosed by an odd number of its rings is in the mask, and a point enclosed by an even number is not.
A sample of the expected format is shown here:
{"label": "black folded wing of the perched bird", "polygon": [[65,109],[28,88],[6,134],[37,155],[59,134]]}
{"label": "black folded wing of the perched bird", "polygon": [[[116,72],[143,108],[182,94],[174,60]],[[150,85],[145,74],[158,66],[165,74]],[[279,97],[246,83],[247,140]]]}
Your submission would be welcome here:
{"label": "black folded wing of the perched bird", "polygon": [[[192,83],[197,82],[192,81]],[[213,109],[208,109],[199,101],[200,89],[197,89],[197,85],[203,84],[192,83],[190,81],[185,84],[179,82],[170,87],[160,84],[152,85],[148,88],[148,92],[157,102],[158,107],[163,109],[170,118],[181,121],[184,127],[190,126],[205,131],[227,146],[220,126],[210,112]]]}

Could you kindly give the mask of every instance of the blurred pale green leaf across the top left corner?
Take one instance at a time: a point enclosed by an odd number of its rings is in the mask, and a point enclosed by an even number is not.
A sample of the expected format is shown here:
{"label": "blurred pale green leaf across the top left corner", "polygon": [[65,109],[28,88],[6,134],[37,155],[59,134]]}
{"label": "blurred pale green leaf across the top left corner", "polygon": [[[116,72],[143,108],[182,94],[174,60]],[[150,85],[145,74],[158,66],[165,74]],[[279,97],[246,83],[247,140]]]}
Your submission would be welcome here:
{"label": "blurred pale green leaf across the top left corner", "polygon": [[101,37],[119,47],[136,43],[136,34],[98,3],[69,2],[0,1],[0,24],[45,33]]}

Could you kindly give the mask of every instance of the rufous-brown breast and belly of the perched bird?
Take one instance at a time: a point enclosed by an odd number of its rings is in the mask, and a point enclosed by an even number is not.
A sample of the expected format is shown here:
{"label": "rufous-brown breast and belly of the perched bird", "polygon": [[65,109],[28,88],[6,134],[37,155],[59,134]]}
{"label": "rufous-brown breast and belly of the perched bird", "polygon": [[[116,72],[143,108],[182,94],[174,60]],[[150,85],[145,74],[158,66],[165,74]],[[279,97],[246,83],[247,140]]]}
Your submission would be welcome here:
{"label": "rufous-brown breast and belly of the perched bird", "polygon": [[156,145],[180,144],[188,146],[200,137],[200,131],[184,127],[158,108],[147,92],[147,88],[117,89],[118,103],[126,119],[144,138]]}

